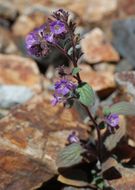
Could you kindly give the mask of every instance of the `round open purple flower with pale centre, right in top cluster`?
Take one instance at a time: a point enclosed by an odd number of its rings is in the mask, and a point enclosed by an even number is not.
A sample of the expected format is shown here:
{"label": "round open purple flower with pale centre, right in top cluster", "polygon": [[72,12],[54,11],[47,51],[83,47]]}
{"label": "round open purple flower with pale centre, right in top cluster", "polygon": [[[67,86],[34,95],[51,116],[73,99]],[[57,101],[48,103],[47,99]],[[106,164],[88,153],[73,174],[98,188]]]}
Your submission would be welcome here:
{"label": "round open purple flower with pale centre, right in top cluster", "polygon": [[61,34],[66,32],[65,24],[60,20],[56,20],[50,23],[50,30],[53,34]]}

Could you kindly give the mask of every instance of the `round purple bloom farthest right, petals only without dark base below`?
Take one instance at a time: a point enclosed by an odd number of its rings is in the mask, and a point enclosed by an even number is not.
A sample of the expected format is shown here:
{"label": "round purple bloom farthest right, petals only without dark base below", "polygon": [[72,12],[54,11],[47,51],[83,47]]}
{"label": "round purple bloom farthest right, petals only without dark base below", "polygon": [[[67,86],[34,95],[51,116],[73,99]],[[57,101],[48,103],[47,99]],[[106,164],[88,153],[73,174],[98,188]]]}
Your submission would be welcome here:
{"label": "round purple bloom farthest right, petals only without dark base below", "polygon": [[111,127],[117,127],[119,124],[119,116],[117,114],[110,114],[105,118],[106,123]]}

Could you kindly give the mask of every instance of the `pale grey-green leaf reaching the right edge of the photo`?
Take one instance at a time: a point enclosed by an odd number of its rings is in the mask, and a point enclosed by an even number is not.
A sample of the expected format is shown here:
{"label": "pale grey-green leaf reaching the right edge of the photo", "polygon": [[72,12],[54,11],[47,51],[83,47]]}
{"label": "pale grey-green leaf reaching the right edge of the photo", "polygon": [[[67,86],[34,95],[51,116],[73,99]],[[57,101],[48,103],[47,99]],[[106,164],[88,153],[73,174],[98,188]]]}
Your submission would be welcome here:
{"label": "pale grey-green leaf reaching the right edge of the photo", "polygon": [[110,107],[111,113],[119,115],[135,115],[135,105],[130,102],[119,102]]}

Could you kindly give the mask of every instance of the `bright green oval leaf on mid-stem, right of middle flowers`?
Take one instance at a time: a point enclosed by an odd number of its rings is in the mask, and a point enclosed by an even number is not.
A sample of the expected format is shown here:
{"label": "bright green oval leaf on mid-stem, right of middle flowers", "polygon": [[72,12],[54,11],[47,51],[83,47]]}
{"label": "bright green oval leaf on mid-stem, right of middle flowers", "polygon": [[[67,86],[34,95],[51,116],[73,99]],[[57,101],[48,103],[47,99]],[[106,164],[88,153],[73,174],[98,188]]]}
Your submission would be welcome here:
{"label": "bright green oval leaf on mid-stem, right of middle flowers", "polygon": [[79,84],[79,86],[76,89],[79,100],[82,104],[85,106],[93,106],[95,103],[95,94],[92,89],[86,82],[83,82]]}

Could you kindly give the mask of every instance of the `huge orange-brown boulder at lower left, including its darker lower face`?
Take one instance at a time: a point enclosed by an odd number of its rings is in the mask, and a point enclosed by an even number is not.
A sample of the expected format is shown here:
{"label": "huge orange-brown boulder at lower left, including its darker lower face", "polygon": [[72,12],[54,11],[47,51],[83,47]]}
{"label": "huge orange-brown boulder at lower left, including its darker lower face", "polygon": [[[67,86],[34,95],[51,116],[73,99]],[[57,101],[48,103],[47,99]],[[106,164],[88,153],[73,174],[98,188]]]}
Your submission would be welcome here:
{"label": "huge orange-brown boulder at lower left, including its darker lower face", "polygon": [[73,130],[88,138],[88,128],[73,110],[52,107],[43,95],[12,109],[0,120],[0,189],[36,189],[55,175],[57,153]]}

